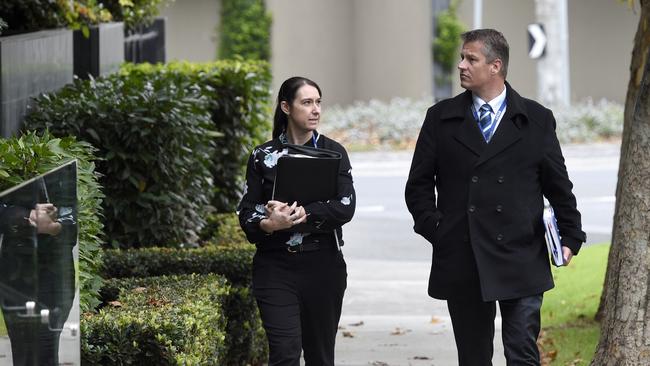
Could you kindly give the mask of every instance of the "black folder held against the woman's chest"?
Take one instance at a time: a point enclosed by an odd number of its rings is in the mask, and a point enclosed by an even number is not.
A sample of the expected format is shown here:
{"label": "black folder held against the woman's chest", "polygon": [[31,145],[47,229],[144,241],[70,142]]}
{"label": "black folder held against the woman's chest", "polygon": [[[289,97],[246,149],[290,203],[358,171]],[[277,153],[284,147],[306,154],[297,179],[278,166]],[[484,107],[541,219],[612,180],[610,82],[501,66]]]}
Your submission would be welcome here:
{"label": "black folder held against the woman's chest", "polygon": [[285,145],[278,158],[273,199],[299,206],[336,198],[341,154],[327,149]]}

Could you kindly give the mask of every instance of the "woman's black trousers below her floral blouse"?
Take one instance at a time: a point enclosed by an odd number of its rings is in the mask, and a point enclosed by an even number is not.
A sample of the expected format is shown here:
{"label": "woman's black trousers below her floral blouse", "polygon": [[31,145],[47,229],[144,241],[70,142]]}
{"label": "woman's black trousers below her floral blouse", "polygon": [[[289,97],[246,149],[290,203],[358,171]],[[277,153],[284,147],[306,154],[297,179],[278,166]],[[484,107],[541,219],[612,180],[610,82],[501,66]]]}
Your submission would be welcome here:
{"label": "woman's black trousers below her floral blouse", "polygon": [[336,247],[259,251],[253,293],[269,341],[269,366],[333,366],[347,271]]}

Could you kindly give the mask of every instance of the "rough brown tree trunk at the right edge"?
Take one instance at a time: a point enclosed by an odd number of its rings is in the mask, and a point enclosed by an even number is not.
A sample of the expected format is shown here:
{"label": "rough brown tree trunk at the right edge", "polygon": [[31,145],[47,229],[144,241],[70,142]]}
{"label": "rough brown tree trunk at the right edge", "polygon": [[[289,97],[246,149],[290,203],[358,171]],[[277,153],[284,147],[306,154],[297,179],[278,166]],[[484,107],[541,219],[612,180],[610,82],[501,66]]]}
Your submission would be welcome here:
{"label": "rough brown tree trunk at the right edge", "polygon": [[[626,121],[602,299],[600,341],[592,365],[650,365],[650,0],[641,0],[632,64],[641,59],[636,93],[628,90]],[[639,35],[639,32],[642,34]],[[641,42],[640,42],[641,41]],[[606,72],[606,70],[604,71]],[[632,80],[631,80],[632,81]],[[636,94],[636,100],[630,98]],[[633,112],[630,112],[633,105]],[[629,117],[629,118],[628,118]]]}

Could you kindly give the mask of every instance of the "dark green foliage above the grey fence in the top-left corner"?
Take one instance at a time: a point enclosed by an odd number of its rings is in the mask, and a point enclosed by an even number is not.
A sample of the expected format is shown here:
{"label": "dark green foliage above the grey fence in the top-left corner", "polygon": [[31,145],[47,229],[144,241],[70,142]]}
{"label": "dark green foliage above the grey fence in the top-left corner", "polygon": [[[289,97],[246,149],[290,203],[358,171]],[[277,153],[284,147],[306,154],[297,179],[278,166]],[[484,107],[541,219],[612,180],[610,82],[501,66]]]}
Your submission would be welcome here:
{"label": "dark green foliage above the grey fence in the top-left corner", "polygon": [[65,0],[2,0],[0,18],[7,23],[5,35],[63,27]]}

